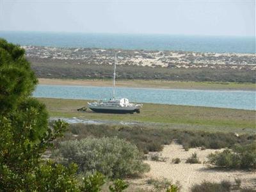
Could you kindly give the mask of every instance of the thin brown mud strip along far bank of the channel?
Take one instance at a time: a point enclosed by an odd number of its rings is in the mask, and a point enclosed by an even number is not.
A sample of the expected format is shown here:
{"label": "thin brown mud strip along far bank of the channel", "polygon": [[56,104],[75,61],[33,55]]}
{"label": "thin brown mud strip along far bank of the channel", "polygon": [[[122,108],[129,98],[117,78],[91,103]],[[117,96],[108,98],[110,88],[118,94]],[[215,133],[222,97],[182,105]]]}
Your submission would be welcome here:
{"label": "thin brown mud strip along far bank of the channel", "polygon": [[[39,84],[71,85],[71,86],[112,86],[112,80],[101,79],[46,79],[39,78]],[[118,87],[161,88],[186,90],[241,90],[255,91],[254,83],[219,83],[194,81],[157,81],[157,80],[118,80]]]}

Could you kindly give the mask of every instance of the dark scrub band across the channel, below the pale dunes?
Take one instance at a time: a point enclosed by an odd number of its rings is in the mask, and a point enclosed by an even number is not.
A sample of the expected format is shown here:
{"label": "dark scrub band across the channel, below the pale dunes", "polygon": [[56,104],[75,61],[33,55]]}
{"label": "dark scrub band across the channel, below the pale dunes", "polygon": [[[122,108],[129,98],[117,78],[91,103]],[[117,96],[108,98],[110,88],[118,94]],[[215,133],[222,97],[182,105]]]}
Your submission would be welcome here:
{"label": "dark scrub band across the channel, below the pale dunes", "polygon": [[[32,68],[39,78],[55,79],[111,79],[112,65],[99,63],[83,63],[77,65],[72,60],[51,60],[29,58]],[[111,63],[113,60],[111,61]],[[255,83],[255,72],[247,68],[175,68],[169,67],[142,67],[134,65],[118,65],[116,70],[118,79],[156,79],[166,81],[213,81],[213,82],[239,82]],[[214,67],[214,65],[212,65]],[[248,65],[250,67],[250,65]],[[215,65],[216,67],[216,65]]]}

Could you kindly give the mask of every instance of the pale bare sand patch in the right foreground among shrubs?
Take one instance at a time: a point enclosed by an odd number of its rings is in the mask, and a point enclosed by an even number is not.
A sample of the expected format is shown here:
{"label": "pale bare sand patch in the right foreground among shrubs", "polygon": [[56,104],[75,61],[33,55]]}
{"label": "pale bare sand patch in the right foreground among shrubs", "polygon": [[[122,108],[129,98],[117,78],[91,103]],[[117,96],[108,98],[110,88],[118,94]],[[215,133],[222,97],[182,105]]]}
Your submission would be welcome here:
{"label": "pale bare sand patch in the right foreground among shrubs", "polygon": [[[159,152],[160,157],[166,159],[165,162],[160,161],[145,161],[150,165],[150,172],[145,174],[143,179],[131,180],[135,186],[140,188],[152,188],[146,184],[149,178],[171,180],[173,183],[179,182],[182,186],[181,191],[189,191],[194,184],[200,184],[203,180],[209,182],[221,182],[222,180],[229,180],[234,183],[234,179],[241,179],[241,187],[256,188],[255,172],[245,172],[242,170],[216,170],[207,167],[204,164],[207,161],[207,156],[217,150],[200,150],[200,148],[191,148],[189,151],[185,151],[182,145],[172,143],[172,145],[165,145],[163,152]],[[201,164],[187,164],[186,159],[196,152]],[[173,164],[173,158],[180,158],[179,164]]]}

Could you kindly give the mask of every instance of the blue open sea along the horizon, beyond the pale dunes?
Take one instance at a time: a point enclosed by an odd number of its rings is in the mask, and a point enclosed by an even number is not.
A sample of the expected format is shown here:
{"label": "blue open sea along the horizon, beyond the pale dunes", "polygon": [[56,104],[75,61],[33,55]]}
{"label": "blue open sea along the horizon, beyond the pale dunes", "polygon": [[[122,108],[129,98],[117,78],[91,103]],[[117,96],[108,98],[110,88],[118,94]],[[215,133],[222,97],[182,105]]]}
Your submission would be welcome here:
{"label": "blue open sea along the horizon, beyond the pale dunes", "polygon": [[107,33],[50,33],[0,31],[0,38],[20,45],[97,47],[196,52],[255,52],[255,37],[131,35]]}

